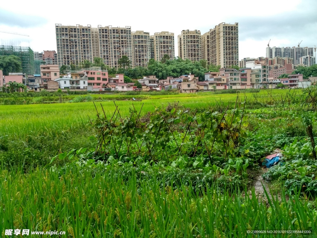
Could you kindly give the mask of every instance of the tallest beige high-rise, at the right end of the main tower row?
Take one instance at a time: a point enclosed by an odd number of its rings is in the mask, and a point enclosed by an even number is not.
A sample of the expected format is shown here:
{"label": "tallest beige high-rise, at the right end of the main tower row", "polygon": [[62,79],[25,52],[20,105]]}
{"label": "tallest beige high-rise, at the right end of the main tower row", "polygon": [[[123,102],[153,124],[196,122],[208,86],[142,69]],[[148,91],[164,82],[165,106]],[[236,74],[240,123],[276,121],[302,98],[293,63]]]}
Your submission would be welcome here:
{"label": "tallest beige high-rise, at the right end of the main tower row", "polygon": [[[210,63],[221,65],[221,68],[239,65],[238,23],[220,23],[214,29],[210,29],[209,35]],[[203,55],[205,56],[206,53],[204,52]]]}

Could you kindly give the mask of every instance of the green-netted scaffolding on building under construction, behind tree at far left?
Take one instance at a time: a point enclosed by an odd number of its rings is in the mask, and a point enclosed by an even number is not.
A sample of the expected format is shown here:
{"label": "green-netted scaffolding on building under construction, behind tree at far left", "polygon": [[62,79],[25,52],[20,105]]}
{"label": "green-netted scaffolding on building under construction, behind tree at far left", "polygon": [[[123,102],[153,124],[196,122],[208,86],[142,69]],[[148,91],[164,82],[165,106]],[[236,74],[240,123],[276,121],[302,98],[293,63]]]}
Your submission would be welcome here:
{"label": "green-netted scaffolding on building under construction, behind tree at far left", "polygon": [[20,58],[22,73],[33,75],[35,73],[34,52],[30,47],[0,45],[0,56],[15,55]]}

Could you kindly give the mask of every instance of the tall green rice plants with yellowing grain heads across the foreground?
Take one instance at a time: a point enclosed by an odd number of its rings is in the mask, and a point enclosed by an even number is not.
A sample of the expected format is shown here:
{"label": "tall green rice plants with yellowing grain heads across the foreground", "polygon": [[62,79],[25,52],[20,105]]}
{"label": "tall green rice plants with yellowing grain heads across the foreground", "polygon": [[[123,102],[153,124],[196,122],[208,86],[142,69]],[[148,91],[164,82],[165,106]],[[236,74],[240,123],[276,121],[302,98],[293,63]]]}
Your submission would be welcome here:
{"label": "tall green rice plants with yellowing grain heads across the foreground", "polygon": [[[141,175],[140,175],[141,176]],[[70,165],[0,175],[0,231],[66,231],[66,237],[245,237],[248,230],[317,232],[317,200],[274,195],[259,202],[254,192],[220,194],[217,185],[194,192],[157,181],[123,180],[111,168]],[[261,235],[261,237],[288,237]],[[314,236],[313,236],[314,237]]]}

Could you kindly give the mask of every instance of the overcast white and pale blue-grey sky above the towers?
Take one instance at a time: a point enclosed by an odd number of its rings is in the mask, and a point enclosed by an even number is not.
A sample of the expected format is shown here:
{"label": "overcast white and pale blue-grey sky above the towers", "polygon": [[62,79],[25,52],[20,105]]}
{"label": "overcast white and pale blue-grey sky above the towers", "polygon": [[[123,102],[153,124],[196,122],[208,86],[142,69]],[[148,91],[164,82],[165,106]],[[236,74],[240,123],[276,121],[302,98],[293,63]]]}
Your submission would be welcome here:
{"label": "overcast white and pale blue-grey sky above the towers", "polygon": [[[239,59],[265,56],[270,46],[317,45],[317,0],[223,1],[100,1],[55,0],[2,1],[0,44],[30,46],[34,51],[56,50],[55,23],[92,27],[131,26],[132,31],[200,30],[202,34],[219,23],[239,23]],[[82,3],[82,4],[81,4]],[[154,3],[157,3],[154,5]],[[12,6],[14,4],[14,6]]]}

